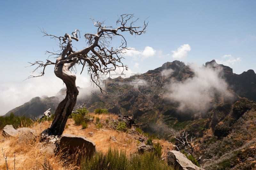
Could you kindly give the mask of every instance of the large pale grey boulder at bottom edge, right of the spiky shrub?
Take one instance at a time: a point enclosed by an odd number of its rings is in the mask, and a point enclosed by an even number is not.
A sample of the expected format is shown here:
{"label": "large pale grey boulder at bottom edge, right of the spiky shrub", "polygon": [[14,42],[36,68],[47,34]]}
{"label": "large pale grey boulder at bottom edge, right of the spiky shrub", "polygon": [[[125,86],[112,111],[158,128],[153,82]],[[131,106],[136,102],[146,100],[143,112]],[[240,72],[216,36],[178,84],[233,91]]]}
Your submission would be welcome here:
{"label": "large pale grey boulder at bottom edge, right of the spiky shrub", "polygon": [[167,154],[168,165],[174,166],[179,170],[204,170],[194,165],[184,154],[179,151],[168,151]]}

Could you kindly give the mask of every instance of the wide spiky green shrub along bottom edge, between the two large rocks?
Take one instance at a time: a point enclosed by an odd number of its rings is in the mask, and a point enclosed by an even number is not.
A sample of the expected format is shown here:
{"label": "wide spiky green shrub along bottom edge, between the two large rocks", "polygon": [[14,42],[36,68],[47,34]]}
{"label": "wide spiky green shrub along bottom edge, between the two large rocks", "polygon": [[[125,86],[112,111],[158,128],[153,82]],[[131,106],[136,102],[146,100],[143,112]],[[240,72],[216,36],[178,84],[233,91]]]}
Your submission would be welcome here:
{"label": "wide spiky green shrub along bottom edge, between the two large rocks", "polygon": [[81,163],[81,169],[93,170],[173,170],[172,166],[168,166],[167,162],[159,160],[152,152],[144,154],[130,154],[126,156],[125,151],[117,149],[108,149],[107,153],[96,153],[92,158],[84,158]]}

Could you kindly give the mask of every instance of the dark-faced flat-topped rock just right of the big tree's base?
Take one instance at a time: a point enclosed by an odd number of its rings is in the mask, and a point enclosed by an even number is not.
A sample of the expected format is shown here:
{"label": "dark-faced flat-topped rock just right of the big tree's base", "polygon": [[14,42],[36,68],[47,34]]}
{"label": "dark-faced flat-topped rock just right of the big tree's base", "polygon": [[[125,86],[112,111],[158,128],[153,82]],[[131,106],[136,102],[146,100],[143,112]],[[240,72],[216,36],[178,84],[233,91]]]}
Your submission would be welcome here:
{"label": "dark-faced flat-topped rock just right of the big tree's base", "polygon": [[58,150],[67,156],[79,154],[80,157],[91,157],[92,154],[97,152],[95,143],[91,140],[85,138],[84,136],[69,134],[61,135]]}

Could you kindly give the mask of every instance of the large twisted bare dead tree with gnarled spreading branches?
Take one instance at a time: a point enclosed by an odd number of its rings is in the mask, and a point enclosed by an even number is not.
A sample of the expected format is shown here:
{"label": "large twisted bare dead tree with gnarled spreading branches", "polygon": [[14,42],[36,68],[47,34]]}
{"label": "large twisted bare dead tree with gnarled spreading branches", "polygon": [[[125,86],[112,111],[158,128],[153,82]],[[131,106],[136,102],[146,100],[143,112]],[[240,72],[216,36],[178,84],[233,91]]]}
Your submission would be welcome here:
{"label": "large twisted bare dead tree with gnarled spreading branches", "polygon": [[[51,38],[59,40],[60,50],[57,52],[49,52],[50,55],[57,56],[56,61],[52,62],[49,59],[46,63],[42,61],[36,61],[30,63],[31,66],[36,66],[36,71],[42,68],[43,71],[37,76],[43,76],[46,66],[55,65],[54,73],[59,77],[67,87],[67,93],[64,100],[60,102],[54,113],[54,119],[52,125],[48,128],[45,133],[48,135],[62,135],[68,116],[71,114],[78,95],[78,89],[76,87],[76,66],[81,65],[82,71],[84,67],[87,67],[88,74],[90,75],[91,81],[93,81],[100,88],[100,74],[109,74],[115,71],[116,68],[121,68],[122,73],[124,69],[127,70],[127,66],[121,61],[125,52],[126,40],[121,34],[122,32],[129,32],[131,35],[141,35],[146,32],[147,22],[144,21],[142,27],[134,26],[135,19],[133,14],[123,14],[116,21],[117,27],[104,25],[104,22],[95,21],[92,19],[94,26],[97,27],[96,34],[85,34],[85,42],[87,47],[82,50],[75,51],[71,42],[78,41],[79,30],[75,30],[72,35],[65,34],[64,36],[55,36],[42,31],[44,36],[50,36]],[[121,44],[119,47],[112,47],[111,41],[114,37],[121,38]]]}

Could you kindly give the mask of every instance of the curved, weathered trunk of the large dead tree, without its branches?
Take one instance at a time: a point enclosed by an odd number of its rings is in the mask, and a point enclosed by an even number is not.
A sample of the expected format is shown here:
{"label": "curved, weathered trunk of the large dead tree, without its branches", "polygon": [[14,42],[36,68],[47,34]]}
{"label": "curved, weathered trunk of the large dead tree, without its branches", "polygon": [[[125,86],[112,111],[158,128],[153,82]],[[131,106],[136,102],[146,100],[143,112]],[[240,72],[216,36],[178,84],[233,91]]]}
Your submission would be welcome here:
{"label": "curved, weathered trunk of the large dead tree, without its branches", "polygon": [[[60,59],[60,58],[59,58]],[[58,59],[57,59],[58,61]],[[54,73],[67,87],[66,97],[60,102],[55,113],[52,125],[49,128],[49,135],[62,135],[68,116],[72,113],[76,104],[78,89],[76,87],[76,75],[70,73],[69,68],[72,64],[56,64]]]}

